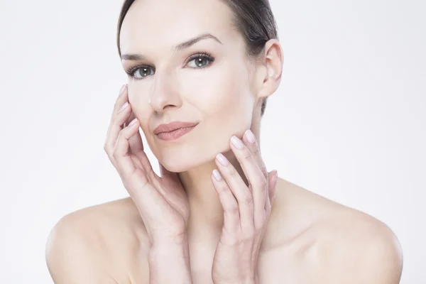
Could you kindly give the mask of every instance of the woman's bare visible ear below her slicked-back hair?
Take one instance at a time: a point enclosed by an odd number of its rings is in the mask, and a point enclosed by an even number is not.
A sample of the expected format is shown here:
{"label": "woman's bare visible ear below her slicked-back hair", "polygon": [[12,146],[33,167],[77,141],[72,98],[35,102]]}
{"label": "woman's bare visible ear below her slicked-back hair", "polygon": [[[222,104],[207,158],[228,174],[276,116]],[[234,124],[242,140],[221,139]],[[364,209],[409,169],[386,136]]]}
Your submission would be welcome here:
{"label": "woman's bare visible ear below her slicked-back hair", "polygon": [[258,98],[269,97],[280,85],[283,73],[284,54],[275,38],[265,44],[263,56],[256,66],[256,89]]}

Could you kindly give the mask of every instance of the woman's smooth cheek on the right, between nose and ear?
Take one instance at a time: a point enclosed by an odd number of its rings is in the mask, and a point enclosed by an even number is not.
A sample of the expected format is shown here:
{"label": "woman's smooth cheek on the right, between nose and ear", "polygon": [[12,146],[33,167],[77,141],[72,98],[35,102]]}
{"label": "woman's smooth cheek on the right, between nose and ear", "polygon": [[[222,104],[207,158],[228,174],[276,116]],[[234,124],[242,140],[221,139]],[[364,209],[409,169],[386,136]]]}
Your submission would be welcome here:
{"label": "woman's smooth cheek on the right, between nose and ear", "polygon": [[[234,64],[203,71],[197,80],[185,82],[182,92],[187,104],[192,104],[202,118],[197,141],[182,148],[182,153],[191,153],[197,163],[200,157],[207,162],[217,153],[228,151],[232,135],[243,136],[252,124],[255,104],[245,66]],[[185,160],[185,157],[177,160]]]}

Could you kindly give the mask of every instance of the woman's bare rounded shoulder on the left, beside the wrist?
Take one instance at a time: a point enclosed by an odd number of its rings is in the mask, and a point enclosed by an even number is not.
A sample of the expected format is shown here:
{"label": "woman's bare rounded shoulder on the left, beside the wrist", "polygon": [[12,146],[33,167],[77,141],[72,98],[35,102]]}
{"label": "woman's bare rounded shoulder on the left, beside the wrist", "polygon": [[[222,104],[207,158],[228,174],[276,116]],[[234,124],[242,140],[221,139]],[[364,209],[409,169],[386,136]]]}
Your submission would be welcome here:
{"label": "woman's bare rounded shoulder on the left, beside the wrist", "polygon": [[130,283],[133,266],[143,273],[144,236],[130,198],[67,214],[48,236],[50,275],[55,283]]}

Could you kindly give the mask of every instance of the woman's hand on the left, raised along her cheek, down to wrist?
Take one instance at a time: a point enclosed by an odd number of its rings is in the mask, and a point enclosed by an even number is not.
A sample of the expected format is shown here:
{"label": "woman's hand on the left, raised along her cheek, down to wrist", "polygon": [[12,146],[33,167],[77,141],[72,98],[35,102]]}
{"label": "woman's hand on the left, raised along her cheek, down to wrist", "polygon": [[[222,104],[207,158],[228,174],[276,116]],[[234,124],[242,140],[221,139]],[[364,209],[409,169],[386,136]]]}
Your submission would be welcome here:
{"label": "woman's hand on the left, raised along her cheek, down to wrist", "polygon": [[177,173],[160,163],[161,177],[154,173],[143,151],[138,119],[127,123],[132,116],[124,85],[114,105],[104,150],[141,214],[151,245],[184,242],[190,215],[186,192]]}

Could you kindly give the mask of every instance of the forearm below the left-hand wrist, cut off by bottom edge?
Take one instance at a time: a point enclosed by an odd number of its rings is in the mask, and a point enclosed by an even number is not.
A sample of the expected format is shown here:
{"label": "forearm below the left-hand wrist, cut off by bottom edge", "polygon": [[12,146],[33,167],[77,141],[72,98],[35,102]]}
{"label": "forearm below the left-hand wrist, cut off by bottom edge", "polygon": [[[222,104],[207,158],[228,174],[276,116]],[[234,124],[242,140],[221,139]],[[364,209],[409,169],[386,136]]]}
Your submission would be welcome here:
{"label": "forearm below the left-hand wrist, cut off by bottom edge", "polygon": [[182,244],[154,244],[149,252],[150,284],[192,284],[190,252]]}

